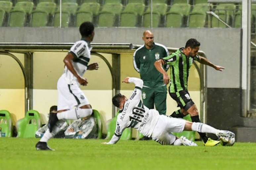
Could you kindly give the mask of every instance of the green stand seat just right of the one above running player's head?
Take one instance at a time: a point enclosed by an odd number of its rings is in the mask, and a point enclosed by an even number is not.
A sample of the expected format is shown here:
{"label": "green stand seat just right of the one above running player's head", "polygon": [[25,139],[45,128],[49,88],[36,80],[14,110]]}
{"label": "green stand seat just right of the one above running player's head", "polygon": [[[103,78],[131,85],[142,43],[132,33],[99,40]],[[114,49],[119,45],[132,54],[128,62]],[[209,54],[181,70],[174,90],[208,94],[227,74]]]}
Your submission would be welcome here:
{"label": "green stand seat just right of the one above running player's head", "polygon": [[115,14],[113,12],[99,12],[99,27],[113,27],[115,26]]}

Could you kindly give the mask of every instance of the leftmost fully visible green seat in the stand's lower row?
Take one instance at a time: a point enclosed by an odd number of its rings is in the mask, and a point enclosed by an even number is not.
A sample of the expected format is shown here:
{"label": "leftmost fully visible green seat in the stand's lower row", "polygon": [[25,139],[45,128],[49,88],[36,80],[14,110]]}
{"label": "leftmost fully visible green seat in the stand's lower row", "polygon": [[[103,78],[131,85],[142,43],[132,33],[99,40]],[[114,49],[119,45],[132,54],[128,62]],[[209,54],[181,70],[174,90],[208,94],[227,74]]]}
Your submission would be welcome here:
{"label": "leftmost fully visible green seat in the stand's lower row", "polygon": [[24,27],[26,12],[24,10],[13,10],[10,12],[10,27]]}

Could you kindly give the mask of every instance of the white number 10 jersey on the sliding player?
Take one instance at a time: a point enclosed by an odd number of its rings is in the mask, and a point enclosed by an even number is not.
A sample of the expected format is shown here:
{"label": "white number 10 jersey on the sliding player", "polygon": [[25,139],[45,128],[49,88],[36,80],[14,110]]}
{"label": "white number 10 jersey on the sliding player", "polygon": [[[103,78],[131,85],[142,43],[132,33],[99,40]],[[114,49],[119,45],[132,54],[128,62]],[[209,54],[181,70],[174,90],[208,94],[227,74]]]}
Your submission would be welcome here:
{"label": "white number 10 jersey on the sliding player", "polygon": [[115,134],[109,141],[109,144],[116,143],[124,129],[128,127],[137,129],[144,136],[151,136],[159,118],[157,110],[147,108],[141,101],[143,81],[138,78],[129,78],[129,82],[135,84],[135,89],[119,111]]}

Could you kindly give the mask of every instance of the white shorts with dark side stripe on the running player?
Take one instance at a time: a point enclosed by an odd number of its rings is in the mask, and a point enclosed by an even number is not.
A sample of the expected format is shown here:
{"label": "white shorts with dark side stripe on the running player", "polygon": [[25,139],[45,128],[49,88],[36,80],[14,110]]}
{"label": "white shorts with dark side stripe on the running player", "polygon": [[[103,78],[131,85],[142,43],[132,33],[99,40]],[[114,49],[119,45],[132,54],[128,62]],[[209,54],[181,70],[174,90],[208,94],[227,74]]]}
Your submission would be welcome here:
{"label": "white shorts with dark side stripe on the running player", "polygon": [[58,110],[72,109],[80,104],[88,105],[89,101],[80,89],[78,84],[67,84],[64,75],[57,83],[58,89]]}

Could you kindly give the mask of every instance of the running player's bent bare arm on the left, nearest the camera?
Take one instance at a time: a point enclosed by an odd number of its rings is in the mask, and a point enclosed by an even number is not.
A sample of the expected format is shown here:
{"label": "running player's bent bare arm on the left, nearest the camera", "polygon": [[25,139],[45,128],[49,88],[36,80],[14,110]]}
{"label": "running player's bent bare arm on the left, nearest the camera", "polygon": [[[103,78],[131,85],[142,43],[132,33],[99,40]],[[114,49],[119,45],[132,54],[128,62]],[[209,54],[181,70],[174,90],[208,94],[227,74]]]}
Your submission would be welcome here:
{"label": "running player's bent bare arm on the left, nearest the camera", "polygon": [[87,85],[88,83],[87,80],[81,78],[75,71],[72,65],[72,60],[74,60],[74,56],[71,53],[68,53],[64,58],[63,62],[65,63],[67,69],[77,78],[77,81],[79,82],[80,85]]}

